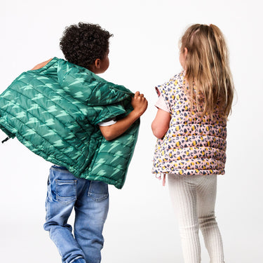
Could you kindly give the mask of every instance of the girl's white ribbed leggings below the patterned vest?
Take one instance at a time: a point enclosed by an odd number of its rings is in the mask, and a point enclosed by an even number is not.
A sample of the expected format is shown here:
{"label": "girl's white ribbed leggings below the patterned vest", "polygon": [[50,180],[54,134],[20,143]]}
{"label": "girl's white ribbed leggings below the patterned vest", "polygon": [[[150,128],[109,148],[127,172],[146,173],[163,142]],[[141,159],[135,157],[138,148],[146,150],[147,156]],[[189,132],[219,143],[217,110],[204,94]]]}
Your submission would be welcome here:
{"label": "girl's white ribbed leggings below the patterned vest", "polygon": [[168,184],[178,217],[184,262],[201,262],[200,228],[210,263],[224,263],[222,238],[215,220],[217,175],[169,174]]}

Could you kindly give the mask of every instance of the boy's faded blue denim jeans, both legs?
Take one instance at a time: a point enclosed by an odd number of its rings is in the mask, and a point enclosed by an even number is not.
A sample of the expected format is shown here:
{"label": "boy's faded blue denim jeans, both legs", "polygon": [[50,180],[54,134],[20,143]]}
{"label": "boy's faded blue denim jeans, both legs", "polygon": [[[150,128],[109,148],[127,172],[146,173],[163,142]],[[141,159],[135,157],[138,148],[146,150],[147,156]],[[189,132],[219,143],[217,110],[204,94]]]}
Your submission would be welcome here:
{"label": "boy's faded blue denim jeans, both legs", "polygon": [[[73,208],[74,236],[67,224]],[[50,168],[44,229],[57,245],[63,263],[100,262],[108,210],[107,184],[76,178],[61,166]]]}

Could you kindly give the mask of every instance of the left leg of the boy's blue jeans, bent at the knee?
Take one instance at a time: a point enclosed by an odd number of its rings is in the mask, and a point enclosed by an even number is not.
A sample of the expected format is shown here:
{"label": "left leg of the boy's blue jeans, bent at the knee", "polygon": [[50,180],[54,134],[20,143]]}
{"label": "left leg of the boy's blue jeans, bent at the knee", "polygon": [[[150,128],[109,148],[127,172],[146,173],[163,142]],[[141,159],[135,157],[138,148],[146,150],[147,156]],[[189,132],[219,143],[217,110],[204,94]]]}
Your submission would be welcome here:
{"label": "left leg of the boy's blue jeans, bent at the knee", "polygon": [[79,181],[65,169],[55,166],[50,168],[44,229],[49,231],[50,238],[57,245],[63,263],[85,258],[79,243],[72,235],[72,227],[67,224],[77,191],[83,187],[83,182],[85,181]]}

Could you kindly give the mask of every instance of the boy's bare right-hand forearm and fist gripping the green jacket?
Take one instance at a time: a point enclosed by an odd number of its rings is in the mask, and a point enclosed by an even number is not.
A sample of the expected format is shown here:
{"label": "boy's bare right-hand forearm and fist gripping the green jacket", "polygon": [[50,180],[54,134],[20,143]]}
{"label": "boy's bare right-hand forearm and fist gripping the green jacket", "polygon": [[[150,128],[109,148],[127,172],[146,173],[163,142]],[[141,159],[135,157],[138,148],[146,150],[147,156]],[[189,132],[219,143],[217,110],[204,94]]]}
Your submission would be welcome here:
{"label": "boy's bare right-hand forearm and fist gripping the green jacket", "polygon": [[131,104],[133,106],[133,111],[126,117],[120,119],[113,125],[100,126],[100,131],[106,140],[113,140],[125,133],[126,130],[128,130],[128,128],[130,128],[130,126],[142,116],[148,106],[147,100],[139,91],[135,93]]}

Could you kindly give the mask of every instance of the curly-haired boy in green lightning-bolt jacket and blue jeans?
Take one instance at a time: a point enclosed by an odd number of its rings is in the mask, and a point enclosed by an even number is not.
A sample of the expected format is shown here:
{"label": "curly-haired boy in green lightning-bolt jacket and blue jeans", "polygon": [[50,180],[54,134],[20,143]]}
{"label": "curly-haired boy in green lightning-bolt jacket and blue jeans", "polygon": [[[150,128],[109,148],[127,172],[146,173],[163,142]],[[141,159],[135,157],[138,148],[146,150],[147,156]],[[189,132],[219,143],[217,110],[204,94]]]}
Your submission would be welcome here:
{"label": "curly-haired boy in green lightning-bolt jacket and blue jeans", "polygon": [[[147,109],[144,95],[131,97],[95,75],[109,67],[110,36],[99,25],[67,27],[60,41],[67,61],[37,65],[0,96],[0,128],[54,163],[44,229],[65,263],[100,262],[107,184],[123,186]],[[74,236],[67,224],[73,208]]]}

